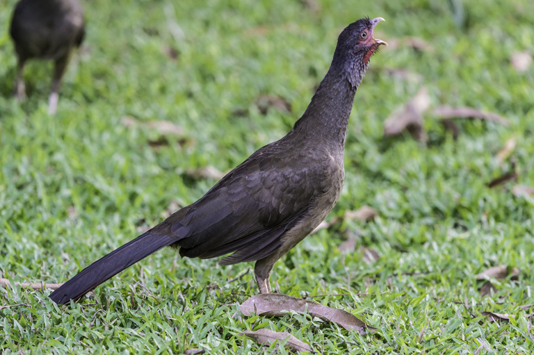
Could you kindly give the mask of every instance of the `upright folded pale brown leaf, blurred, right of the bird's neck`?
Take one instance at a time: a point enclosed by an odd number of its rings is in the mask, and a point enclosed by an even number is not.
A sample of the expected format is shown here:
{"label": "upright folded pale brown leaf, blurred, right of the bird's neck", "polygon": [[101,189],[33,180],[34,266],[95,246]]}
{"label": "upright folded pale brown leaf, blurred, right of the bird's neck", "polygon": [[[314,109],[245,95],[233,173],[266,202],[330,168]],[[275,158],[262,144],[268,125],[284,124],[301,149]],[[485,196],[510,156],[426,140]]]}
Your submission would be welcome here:
{"label": "upright folded pale brown leaf, blurred, right of the bird's neck", "polygon": [[423,129],[423,112],[430,106],[430,97],[426,87],[419,89],[402,111],[394,112],[384,122],[384,135],[391,137],[401,134],[405,129],[419,142],[426,142]]}

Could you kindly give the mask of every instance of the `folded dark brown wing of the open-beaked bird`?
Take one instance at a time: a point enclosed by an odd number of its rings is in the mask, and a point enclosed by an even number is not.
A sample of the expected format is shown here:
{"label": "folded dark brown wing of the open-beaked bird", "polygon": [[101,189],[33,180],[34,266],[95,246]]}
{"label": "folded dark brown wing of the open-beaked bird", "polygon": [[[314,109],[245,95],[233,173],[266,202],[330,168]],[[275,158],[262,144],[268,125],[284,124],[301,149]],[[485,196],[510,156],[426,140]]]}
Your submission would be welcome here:
{"label": "folded dark brown wing of the open-beaked bird", "polygon": [[323,170],[307,164],[305,152],[288,163],[275,149],[268,157],[262,151],[165,220],[181,256],[213,258],[234,252],[223,264],[264,258],[281,246],[280,237],[323,193],[317,184]]}

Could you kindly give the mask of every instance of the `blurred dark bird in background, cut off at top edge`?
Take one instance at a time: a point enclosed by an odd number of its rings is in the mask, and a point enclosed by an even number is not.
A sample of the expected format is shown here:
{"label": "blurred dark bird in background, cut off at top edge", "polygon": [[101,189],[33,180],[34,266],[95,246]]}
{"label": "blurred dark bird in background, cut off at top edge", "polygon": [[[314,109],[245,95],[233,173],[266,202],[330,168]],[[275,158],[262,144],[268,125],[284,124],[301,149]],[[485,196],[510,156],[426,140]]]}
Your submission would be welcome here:
{"label": "blurred dark bird in background, cut off at top edge", "polygon": [[22,76],[24,63],[31,58],[54,60],[54,75],[48,112],[56,113],[61,77],[70,53],[85,35],[83,10],[78,0],[20,0],[15,6],[10,27],[17,52],[15,96],[26,95]]}

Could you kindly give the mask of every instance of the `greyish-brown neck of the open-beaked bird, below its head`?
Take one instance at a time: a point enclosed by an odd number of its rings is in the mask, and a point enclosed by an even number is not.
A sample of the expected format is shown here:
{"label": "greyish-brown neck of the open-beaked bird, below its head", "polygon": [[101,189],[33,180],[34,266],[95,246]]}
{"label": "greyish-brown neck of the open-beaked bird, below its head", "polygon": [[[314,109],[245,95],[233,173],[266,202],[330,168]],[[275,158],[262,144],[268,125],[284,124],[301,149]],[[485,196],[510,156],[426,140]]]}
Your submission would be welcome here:
{"label": "greyish-brown neck of the open-beaked bird, below its head", "polygon": [[303,135],[312,144],[325,143],[330,149],[343,152],[348,117],[362,80],[362,76],[350,74],[352,71],[341,70],[334,59],[312,102],[296,122],[294,133]]}

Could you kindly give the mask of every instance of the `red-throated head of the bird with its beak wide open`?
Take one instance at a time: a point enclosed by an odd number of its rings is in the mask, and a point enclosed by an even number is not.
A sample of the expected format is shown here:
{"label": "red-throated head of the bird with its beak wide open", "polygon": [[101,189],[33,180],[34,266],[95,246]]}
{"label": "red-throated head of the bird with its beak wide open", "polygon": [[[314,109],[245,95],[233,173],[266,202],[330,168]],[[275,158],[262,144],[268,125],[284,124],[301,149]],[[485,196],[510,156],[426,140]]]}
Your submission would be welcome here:
{"label": "red-throated head of the bird with its beak wide open", "polygon": [[373,30],[378,22],[385,21],[382,17],[359,19],[348,25],[337,40],[334,61],[341,65],[348,80],[357,87],[369,65],[369,59],[382,44],[387,43],[373,38]]}

